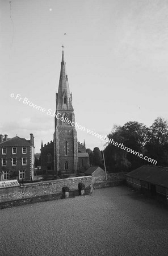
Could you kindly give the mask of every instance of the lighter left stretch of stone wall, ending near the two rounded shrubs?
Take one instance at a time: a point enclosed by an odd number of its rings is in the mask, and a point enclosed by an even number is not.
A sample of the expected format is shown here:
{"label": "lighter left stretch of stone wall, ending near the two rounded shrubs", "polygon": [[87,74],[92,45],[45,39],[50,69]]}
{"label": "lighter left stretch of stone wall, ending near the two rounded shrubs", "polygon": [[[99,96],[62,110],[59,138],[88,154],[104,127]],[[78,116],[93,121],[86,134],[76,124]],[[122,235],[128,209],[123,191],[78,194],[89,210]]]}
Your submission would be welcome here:
{"label": "lighter left stretch of stone wall, ending near the two rounded shrubs", "polygon": [[62,191],[62,187],[69,187],[70,191],[78,189],[78,183],[82,182],[85,187],[89,187],[92,183],[92,176],[72,177],[68,179],[41,181],[36,183],[27,183],[23,187],[0,189],[0,202],[16,199],[25,199],[28,197],[36,197],[50,195]]}

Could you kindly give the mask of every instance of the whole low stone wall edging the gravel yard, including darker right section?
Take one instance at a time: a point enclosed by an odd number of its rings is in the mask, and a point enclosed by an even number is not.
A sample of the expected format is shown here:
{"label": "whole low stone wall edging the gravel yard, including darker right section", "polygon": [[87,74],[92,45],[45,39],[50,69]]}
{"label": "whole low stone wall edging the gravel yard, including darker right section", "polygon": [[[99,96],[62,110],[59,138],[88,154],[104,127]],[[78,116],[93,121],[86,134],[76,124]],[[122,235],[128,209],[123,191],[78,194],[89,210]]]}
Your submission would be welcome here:
{"label": "whole low stone wall edging the gravel yard, including darker right section", "polygon": [[[33,198],[35,198],[35,201],[42,200],[41,198],[46,201],[47,198],[48,200],[50,200],[50,197],[52,197],[51,195],[56,195],[56,193],[62,192],[62,187],[66,186],[70,188],[70,191],[76,191],[78,189],[79,182],[84,183],[86,189],[89,188],[90,184],[93,184],[93,188],[96,189],[121,185],[123,184],[124,180],[125,174],[114,173],[107,174],[107,182],[105,177],[80,176],[71,177],[68,179],[27,183],[24,184],[23,187],[1,188],[0,203],[14,200],[21,200],[20,204],[23,204],[24,200],[26,200],[25,202],[30,201],[31,203],[33,203]],[[39,199],[37,199],[37,197]]]}

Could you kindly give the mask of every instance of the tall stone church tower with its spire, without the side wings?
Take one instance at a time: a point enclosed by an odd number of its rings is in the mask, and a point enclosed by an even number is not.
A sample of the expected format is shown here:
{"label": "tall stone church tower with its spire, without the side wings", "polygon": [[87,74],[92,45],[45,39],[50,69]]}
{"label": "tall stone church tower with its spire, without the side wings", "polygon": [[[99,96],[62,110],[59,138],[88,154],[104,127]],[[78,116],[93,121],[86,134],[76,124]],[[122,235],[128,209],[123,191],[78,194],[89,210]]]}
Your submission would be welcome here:
{"label": "tall stone church tower with its spire, without the side wings", "polygon": [[[68,122],[69,121],[69,122]],[[69,90],[64,50],[62,51],[60,81],[56,93],[54,129],[54,171],[56,174],[74,174],[78,170],[78,142],[72,93]]]}

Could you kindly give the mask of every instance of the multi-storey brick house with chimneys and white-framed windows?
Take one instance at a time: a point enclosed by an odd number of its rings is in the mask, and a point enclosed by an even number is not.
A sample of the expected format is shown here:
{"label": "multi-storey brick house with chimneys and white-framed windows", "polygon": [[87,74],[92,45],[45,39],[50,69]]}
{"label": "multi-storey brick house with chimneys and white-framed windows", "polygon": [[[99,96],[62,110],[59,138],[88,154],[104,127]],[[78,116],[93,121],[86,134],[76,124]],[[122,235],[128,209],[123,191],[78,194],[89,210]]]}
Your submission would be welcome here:
{"label": "multi-storey brick house with chimneys and white-framed windows", "polygon": [[30,134],[30,140],[0,135],[0,179],[33,180],[34,148],[33,134]]}

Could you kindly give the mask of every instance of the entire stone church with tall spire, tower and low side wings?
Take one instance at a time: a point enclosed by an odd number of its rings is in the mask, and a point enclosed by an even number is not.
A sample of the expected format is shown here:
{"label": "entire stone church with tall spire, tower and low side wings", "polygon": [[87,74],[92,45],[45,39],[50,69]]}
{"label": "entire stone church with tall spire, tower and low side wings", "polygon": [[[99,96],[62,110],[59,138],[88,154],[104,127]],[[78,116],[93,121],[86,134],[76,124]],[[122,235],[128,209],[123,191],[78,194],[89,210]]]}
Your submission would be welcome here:
{"label": "entire stone church with tall spire, tower and low side wings", "polygon": [[56,93],[53,141],[41,142],[41,170],[54,171],[56,176],[77,175],[89,168],[89,154],[85,141],[77,140],[72,93],[69,90],[64,49],[62,51],[60,81]]}

